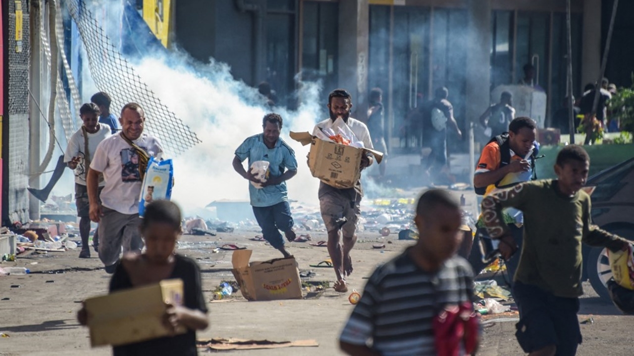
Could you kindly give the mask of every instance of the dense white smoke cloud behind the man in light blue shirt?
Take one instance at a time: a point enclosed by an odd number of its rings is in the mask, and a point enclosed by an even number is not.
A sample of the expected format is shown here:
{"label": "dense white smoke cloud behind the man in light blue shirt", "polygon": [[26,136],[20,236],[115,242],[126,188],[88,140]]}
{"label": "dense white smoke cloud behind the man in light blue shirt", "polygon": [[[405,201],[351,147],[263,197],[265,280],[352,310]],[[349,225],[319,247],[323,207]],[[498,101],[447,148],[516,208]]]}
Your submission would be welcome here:
{"label": "dense white smoke cloud behind the man in light blue shirt", "polygon": [[302,83],[297,111],[270,110],[256,104],[262,102],[257,89],[235,80],[227,65],[212,61],[193,68],[188,63],[184,58],[176,63],[174,58],[169,63],[145,58],[135,65],[148,87],[203,141],[174,159],[172,200],[186,213],[214,200],[248,200],[249,183],[233,170],[231,161],[244,139],[262,132],[262,117],[275,111],[284,120],[280,137],[295,150],[299,165],[298,174],[287,182],[288,196],[316,205],[319,182],[306,165],[309,147],[290,139],[288,132],[312,131],[320,120],[318,103],[325,100],[318,98],[319,84]]}

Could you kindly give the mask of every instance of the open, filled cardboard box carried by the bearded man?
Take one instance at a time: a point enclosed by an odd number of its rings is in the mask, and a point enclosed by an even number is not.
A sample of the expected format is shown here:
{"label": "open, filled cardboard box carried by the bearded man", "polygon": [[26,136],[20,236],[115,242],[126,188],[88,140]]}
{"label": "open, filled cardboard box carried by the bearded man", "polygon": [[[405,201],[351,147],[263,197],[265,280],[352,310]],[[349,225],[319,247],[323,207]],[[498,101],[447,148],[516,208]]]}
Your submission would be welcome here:
{"label": "open, filled cardboard box carried by the bearded man", "polygon": [[377,163],[381,163],[383,153],[368,148],[357,148],[345,144],[323,141],[309,132],[290,132],[290,138],[306,146],[311,144],[308,153],[308,168],[313,177],[339,189],[353,188],[361,177],[361,156],[372,153]]}

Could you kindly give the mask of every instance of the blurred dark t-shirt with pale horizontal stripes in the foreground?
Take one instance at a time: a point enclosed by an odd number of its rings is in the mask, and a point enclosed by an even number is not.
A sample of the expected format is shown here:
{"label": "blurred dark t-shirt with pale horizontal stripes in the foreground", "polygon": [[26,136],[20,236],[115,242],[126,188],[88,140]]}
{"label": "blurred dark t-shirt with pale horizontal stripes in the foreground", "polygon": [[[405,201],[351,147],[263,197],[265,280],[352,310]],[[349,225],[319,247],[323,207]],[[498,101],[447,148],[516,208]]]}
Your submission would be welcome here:
{"label": "blurred dark t-shirt with pale horizontal stripes in the foreground", "polygon": [[385,356],[436,355],[432,321],[446,305],[472,300],[473,272],[457,256],[437,272],[425,272],[408,251],[374,271],[341,341]]}

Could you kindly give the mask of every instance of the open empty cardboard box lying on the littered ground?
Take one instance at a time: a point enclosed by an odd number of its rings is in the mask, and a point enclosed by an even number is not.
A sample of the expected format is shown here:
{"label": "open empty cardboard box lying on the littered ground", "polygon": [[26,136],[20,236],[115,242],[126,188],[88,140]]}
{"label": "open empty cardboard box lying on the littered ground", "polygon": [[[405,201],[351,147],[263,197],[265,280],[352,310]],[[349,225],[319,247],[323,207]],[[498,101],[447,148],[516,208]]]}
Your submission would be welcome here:
{"label": "open empty cardboard box lying on the littered ground", "polygon": [[247,300],[301,299],[302,285],[295,258],[251,262],[251,250],[233,251],[233,276]]}

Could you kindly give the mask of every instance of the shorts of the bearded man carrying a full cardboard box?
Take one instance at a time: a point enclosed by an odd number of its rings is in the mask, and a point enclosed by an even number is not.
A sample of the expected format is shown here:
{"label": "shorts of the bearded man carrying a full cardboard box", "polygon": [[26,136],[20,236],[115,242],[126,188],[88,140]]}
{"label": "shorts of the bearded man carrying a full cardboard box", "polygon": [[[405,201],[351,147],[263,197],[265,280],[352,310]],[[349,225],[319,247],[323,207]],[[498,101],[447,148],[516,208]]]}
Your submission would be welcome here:
{"label": "shorts of the bearded man carrying a full cardboard box", "polygon": [[[351,200],[347,194],[337,191],[328,191],[319,198],[321,219],[328,232],[341,229],[344,237],[354,236],[356,223],[361,215],[361,194],[356,194],[356,199]],[[346,218],[343,222],[342,219]]]}

